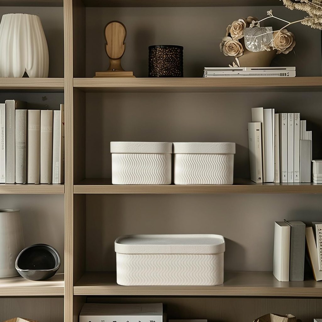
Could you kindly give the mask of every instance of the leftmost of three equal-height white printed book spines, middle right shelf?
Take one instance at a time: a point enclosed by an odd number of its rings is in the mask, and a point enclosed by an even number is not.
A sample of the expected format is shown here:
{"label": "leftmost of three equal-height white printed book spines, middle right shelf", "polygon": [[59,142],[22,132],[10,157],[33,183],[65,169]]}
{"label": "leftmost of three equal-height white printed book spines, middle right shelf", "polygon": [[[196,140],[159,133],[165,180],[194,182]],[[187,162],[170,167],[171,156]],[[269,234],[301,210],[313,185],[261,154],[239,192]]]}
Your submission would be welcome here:
{"label": "leftmost of three equal-height white printed book spines, middle right shelf", "polygon": [[280,158],[280,181],[288,181],[287,169],[287,113],[279,114],[279,158]]}

